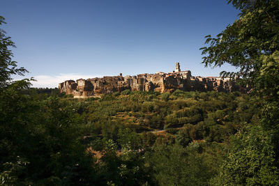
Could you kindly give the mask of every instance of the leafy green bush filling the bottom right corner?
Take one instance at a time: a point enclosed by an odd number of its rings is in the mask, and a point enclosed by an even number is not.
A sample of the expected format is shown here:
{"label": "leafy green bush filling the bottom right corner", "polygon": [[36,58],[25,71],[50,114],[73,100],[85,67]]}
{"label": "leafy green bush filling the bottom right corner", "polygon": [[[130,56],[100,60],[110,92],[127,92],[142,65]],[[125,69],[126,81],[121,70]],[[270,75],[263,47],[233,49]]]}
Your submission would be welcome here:
{"label": "leafy green bush filling the bottom right corner", "polygon": [[278,185],[278,171],[269,132],[248,126],[232,137],[227,159],[212,185]]}

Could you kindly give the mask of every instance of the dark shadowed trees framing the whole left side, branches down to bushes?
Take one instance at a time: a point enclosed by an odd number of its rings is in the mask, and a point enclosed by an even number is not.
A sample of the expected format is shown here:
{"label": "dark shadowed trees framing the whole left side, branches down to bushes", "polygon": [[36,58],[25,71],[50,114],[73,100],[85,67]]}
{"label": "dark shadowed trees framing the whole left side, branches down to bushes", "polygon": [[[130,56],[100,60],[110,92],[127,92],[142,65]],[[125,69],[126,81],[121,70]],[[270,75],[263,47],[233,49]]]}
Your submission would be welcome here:
{"label": "dark shadowed trees framing the whole left side, branches down to bushes", "polygon": [[[4,18],[0,17],[0,24]],[[23,95],[29,79],[12,61],[14,43],[0,30],[0,184],[93,183],[93,161],[80,143],[77,108],[59,98],[39,101]]]}

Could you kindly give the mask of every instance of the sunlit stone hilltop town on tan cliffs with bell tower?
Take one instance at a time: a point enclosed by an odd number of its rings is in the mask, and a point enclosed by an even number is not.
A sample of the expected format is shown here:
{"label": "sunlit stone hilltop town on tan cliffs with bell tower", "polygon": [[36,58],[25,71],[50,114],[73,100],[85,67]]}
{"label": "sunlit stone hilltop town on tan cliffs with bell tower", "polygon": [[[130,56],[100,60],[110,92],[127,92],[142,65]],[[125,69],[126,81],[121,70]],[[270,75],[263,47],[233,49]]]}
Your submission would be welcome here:
{"label": "sunlit stone hilltop town on tan cliffs with bell tower", "polygon": [[169,73],[142,74],[123,77],[96,77],[92,79],[67,80],[59,84],[61,93],[73,94],[75,98],[88,98],[100,93],[113,93],[129,89],[130,91],[240,91],[240,88],[229,79],[221,77],[194,77],[190,70],[181,71],[179,63],[176,70]]}

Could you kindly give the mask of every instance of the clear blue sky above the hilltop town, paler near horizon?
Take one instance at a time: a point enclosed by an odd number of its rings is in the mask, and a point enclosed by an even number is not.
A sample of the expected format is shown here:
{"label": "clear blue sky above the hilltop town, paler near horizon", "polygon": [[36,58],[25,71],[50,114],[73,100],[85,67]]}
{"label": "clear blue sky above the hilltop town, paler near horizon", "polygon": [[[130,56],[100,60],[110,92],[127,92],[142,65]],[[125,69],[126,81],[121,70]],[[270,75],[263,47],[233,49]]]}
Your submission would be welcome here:
{"label": "clear blue sky above the hilltop town, paler near horizon", "polygon": [[172,72],[175,62],[192,75],[204,68],[204,36],[216,36],[237,19],[225,0],[1,0],[2,26],[17,46],[14,60],[38,82]]}

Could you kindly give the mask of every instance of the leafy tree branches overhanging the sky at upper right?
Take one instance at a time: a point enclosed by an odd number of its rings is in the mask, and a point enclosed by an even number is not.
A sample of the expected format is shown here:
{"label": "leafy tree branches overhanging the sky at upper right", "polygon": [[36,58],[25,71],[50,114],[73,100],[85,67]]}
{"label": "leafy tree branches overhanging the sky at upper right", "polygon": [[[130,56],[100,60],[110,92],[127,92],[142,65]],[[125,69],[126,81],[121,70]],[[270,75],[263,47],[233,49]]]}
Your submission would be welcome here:
{"label": "leafy tree branches overhanging the sky at upper right", "polygon": [[262,56],[279,49],[279,1],[227,0],[239,9],[239,20],[227,26],[217,38],[206,36],[203,62],[206,66],[229,63],[239,72],[221,72],[225,77],[242,77],[250,85],[262,68]]}

